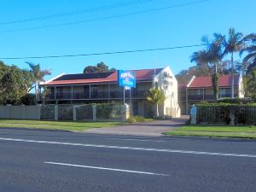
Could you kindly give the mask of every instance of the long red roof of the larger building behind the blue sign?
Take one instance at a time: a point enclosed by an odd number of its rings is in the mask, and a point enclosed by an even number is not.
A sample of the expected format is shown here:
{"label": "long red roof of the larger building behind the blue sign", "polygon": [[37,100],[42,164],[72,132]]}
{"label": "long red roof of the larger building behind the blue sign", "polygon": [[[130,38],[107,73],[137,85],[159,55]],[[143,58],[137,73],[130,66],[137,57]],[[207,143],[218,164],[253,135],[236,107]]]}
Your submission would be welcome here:
{"label": "long red roof of the larger building behind the blue sign", "polygon": [[[162,68],[156,68],[155,74],[160,73]],[[131,70],[135,73],[137,81],[153,80],[154,69]],[[101,73],[78,73],[63,74],[60,77],[44,83],[44,85],[57,84],[96,84],[117,83],[118,71]]]}

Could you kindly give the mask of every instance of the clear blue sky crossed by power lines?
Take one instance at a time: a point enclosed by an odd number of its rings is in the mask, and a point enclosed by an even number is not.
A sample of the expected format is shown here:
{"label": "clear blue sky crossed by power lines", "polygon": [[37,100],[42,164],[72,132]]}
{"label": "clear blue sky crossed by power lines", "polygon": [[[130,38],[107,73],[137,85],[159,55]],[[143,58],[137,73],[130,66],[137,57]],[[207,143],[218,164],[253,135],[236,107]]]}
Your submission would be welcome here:
{"label": "clear blue sky crossed by power lines", "polygon": [[[203,3],[129,15],[148,9],[193,3],[198,0],[139,1],[141,2],[135,3],[138,0],[1,1],[0,57],[76,55],[201,44],[203,35],[211,37],[213,32],[225,34],[230,27],[235,27],[236,31],[244,34],[256,32],[255,0],[209,0]],[[123,3],[125,6],[98,9],[116,3]],[[76,14],[25,22],[26,19],[70,12]],[[115,15],[126,16],[99,20]],[[6,23],[14,20],[23,21]],[[67,26],[20,30],[77,21],[83,22]],[[193,65],[190,63],[190,55],[199,49],[201,48],[3,61],[21,68],[28,68],[26,61],[40,63],[42,68],[52,69],[52,75],[46,79],[60,73],[82,73],[85,66],[95,65],[100,61],[117,69],[153,68],[155,62],[156,67],[170,65],[172,71],[178,73]]]}

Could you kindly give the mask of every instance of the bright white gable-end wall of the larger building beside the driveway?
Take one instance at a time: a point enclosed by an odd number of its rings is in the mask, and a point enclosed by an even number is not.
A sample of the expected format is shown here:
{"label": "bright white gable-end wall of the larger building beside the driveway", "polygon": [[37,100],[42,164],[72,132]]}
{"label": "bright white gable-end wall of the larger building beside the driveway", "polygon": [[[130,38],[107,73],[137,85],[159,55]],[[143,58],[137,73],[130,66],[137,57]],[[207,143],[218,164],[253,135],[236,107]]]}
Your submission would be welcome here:
{"label": "bright white gable-end wall of the larger building beside the driveway", "polygon": [[180,108],[177,104],[177,79],[169,66],[165,67],[154,77],[154,84],[158,83],[160,90],[164,90],[166,101],[160,107],[160,116],[180,117]]}

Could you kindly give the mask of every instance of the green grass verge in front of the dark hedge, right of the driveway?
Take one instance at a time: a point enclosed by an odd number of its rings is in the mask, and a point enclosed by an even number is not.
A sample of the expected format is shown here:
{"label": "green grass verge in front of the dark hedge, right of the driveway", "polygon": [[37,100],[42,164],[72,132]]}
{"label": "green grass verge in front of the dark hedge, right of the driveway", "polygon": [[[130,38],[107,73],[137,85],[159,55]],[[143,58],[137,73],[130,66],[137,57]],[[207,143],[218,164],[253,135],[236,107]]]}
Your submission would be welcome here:
{"label": "green grass verge in front of the dark hedge, right of the driveway", "polygon": [[256,138],[256,126],[187,125],[165,134],[168,136]]}

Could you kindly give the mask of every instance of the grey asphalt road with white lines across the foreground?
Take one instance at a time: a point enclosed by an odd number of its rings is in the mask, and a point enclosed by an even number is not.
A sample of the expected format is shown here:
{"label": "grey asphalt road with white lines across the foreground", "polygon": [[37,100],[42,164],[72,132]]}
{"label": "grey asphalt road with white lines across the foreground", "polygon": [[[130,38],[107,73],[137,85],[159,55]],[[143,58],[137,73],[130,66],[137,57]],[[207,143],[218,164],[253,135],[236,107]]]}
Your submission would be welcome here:
{"label": "grey asphalt road with white lines across the foreground", "polygon": [[256,190],[256,142],[0,130],[0,191]]}

